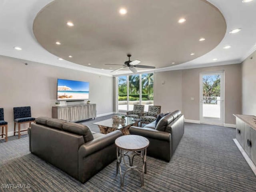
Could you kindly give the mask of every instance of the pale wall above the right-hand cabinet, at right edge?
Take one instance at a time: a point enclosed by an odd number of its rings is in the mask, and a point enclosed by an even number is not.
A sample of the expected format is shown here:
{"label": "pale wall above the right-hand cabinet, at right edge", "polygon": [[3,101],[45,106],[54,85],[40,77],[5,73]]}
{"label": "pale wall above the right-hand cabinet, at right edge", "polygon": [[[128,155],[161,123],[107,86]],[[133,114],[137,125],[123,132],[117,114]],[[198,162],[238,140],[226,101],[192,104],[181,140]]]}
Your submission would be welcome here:
{"label": "pale wall above the right-hand cabinet, at right edge", "polygon": [[256,52],[242,62],[242,113],[256,116]]}

